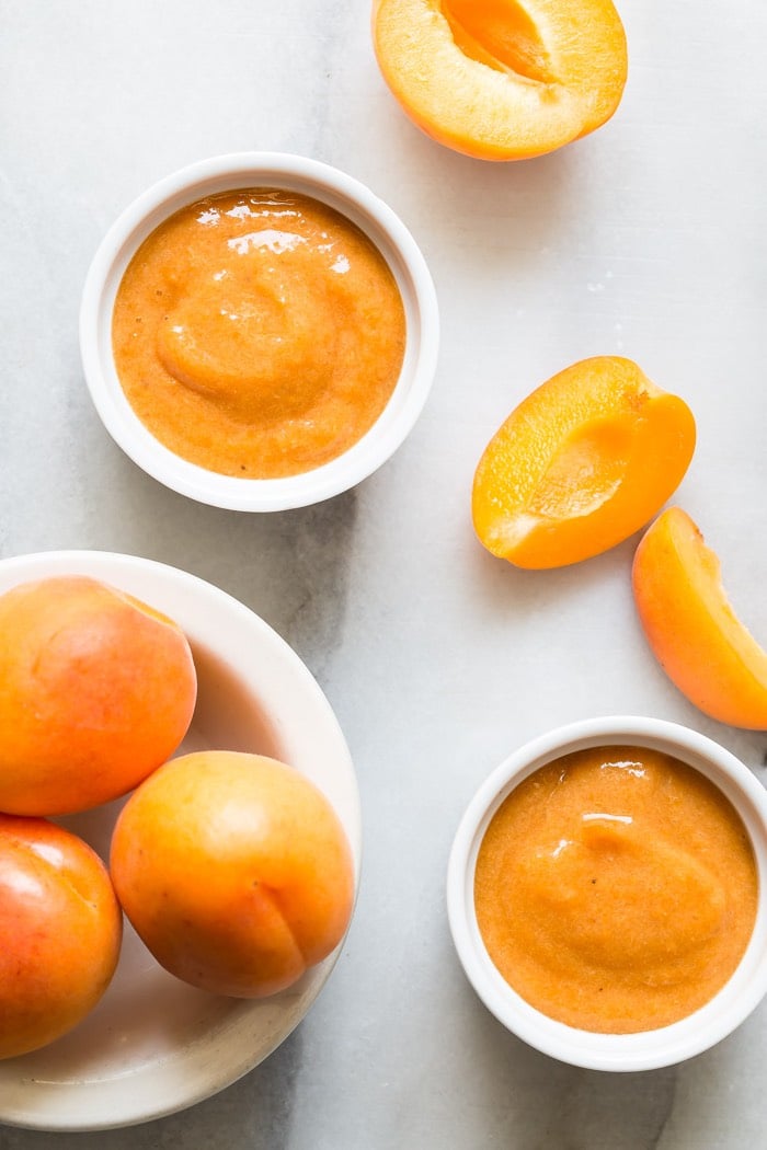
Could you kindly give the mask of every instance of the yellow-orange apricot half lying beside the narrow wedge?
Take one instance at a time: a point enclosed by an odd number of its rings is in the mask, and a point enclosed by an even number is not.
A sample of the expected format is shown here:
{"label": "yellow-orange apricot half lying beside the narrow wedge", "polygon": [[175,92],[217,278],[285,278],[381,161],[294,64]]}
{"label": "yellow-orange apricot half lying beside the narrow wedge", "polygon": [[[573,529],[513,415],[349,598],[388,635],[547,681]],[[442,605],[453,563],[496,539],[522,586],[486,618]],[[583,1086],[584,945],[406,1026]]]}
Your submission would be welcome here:
{"label": "yellow-orange apricot half lying beside the narrow wedge", "polygon": [[484,546],[517,567],[562,567],[639,530],[695,450],[684,400],[631,360],[582,360],[537,388],[496,432],[474,476]]}

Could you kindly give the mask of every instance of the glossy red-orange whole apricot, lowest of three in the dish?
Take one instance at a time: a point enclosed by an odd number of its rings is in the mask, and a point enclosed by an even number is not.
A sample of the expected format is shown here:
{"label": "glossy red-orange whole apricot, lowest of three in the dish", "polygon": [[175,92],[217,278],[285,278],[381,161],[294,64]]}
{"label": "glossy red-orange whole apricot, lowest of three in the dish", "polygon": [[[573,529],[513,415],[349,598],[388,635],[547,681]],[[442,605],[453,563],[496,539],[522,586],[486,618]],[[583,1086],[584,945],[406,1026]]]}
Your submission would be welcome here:
{"label": "glossy red-orange whole apricot, lowest of three in the dish", "polygon": [[121,938],[94,851],[45,819],[0,814],[0,1058],[76,1026],[107,989]]}

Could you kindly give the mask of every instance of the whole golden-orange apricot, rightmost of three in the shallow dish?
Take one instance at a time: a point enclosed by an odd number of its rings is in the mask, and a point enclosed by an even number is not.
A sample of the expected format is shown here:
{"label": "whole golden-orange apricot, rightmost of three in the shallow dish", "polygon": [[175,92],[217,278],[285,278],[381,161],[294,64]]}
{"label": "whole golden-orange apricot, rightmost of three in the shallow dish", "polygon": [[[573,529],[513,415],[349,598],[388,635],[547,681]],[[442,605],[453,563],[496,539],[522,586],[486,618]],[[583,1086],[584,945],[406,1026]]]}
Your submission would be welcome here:
{"label": "whole golden-orange apricot, rightmost of three in the shallow dish", "polygon": [[354,872],[328,799],[262,756],[201,751],[156,770],[113,835],[123,908],[156,960],[214,994],[284,990],[338,945]]}

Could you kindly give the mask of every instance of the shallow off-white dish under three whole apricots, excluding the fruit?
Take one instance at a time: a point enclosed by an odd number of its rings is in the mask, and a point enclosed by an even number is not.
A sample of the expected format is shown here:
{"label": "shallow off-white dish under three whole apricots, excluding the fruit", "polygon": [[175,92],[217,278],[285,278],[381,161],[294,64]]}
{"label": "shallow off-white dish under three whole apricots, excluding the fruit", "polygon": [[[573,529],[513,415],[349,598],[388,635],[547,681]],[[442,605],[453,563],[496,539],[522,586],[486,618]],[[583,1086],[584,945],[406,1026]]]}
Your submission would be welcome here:
{"label": "shallow off-white dish under three whole apricots, excluding the fruit", "polygon": [[[346,742],[322,690],[291,647],[224,591],[185,572],[106,552],[0,561],[0,593],[48,575],[112,583],[176,620],[198,668],[182,750],[258,751],[301,770],[328,796],[359,881],[359,793]],[[57,821],[102,857],[122,802]],[[267,1057],[304,1018],[340,946],[294,987],[261,1002],[222,998],[164,972],[126,925],[115,979],[93,1013],[52,1045],[0,1061],[0,1122],[89,1130],[159,1118],[209,1097]]]}

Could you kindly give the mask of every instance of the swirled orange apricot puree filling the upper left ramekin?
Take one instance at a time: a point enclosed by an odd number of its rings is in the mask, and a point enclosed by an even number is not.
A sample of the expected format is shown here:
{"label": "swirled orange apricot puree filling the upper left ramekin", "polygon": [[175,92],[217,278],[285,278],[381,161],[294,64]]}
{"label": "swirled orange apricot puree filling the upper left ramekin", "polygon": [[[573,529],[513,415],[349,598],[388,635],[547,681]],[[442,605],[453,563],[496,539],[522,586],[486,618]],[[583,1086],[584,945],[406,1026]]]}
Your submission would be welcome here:
{"label": "swirled orange apricot puree filling the upper left ramekin", "polygon": [[317,200],[245,189],[164,221],[117,291],[121,385],[153,436],[241,478],[308,471],[376,421],[405,312],[370,240]]}

